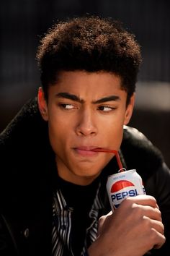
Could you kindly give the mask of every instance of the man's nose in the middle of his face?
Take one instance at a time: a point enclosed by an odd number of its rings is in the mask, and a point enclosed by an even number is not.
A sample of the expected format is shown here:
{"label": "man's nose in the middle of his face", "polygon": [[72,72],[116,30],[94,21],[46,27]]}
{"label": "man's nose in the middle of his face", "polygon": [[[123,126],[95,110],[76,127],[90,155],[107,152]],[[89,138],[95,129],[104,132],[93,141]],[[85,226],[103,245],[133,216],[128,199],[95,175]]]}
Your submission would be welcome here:
{"label": "man's nose in the middle of his face", "polygon": [[76,134],[79,136],[97,135],[95,115],[92,113],[92,111],[81,111],[76,125]]}

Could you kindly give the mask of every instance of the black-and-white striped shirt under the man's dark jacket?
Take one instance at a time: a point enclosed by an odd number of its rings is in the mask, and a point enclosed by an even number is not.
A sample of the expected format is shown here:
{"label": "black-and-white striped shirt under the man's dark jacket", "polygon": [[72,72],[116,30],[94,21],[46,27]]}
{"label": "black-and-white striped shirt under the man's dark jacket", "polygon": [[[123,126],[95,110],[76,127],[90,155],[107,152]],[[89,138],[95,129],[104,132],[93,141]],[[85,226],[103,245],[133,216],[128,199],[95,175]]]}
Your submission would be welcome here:
{"label": "black-and-white striped shirt under the man's dark jacket", "polygon": [[[86,249],[89,244],[94,242],[97,238],[97,226],[99,219],[99,210],[104,208],[102,200],[99,197],[99,187],[97,189],[94,203],[89,211],[89,218],[91,224],[86,229],[86,238],[84,241],[84,247],[82,248],[81,255],[86,254]],[[71,248],[71,216],[73,208],[69,208],[66,204],[66,200],[62,195],[60,189],[58,189],[53,195],[53,230],[52,230],[52,255],[62,256],[64,253],[64,247],[68,248],[70,255],[73,255]]]}

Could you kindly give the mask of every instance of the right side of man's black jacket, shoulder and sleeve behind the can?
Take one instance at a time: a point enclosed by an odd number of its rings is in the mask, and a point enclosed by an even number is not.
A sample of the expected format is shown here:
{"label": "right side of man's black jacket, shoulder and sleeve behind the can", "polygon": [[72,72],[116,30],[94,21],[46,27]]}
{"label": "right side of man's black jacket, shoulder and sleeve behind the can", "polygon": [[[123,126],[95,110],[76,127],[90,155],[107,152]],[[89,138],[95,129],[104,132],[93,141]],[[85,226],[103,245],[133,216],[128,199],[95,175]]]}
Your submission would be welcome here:
{"label": "right side of man's black jacket, shoulder and sleeve behind the can", "polygon": [[170,170],[161,151],[148,138],[133,127],[125,127],[121,145],[128,169],[135,168],[143,179],[147,195],[156,198],[161,210],[166,242],[151,255],[170,255]]}

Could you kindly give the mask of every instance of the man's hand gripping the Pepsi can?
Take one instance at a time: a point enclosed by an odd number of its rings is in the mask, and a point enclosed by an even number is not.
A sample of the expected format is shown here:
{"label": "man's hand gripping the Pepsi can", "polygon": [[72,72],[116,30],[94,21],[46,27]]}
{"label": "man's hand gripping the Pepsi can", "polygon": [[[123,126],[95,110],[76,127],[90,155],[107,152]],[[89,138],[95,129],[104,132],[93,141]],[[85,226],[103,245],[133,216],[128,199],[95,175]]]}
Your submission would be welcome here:
{"label": "man's hand gripping the Pepsi can", "polygon": [[99,219],[90,256],[141,256],[165,242],[161,212],[154,197],[126,198],[119,208]]}

